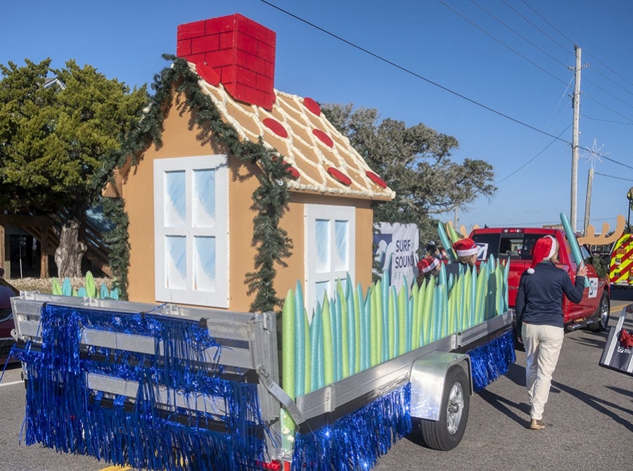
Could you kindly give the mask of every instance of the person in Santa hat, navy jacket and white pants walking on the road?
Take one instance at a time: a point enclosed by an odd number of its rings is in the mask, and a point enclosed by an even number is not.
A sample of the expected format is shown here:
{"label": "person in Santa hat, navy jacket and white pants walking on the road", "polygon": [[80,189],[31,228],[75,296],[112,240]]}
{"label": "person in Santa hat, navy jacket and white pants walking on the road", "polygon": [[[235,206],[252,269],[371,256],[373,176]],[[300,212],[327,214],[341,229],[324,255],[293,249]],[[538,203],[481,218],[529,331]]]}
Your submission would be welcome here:
{"label": "person in Santa hat, navy jacket and white pants walking on the road", "polygon": [[584,292],[587,266],[580,264],[572,284],[559,269],[558,243],[552,236],[539,238],[532,249],[532,264],[521,275],[516,294],[518,341],[525,345],[525,386],[530,400],[530,429],[542,430],[543,411],[551,375],[563,347],[563,294],[579,303]]}

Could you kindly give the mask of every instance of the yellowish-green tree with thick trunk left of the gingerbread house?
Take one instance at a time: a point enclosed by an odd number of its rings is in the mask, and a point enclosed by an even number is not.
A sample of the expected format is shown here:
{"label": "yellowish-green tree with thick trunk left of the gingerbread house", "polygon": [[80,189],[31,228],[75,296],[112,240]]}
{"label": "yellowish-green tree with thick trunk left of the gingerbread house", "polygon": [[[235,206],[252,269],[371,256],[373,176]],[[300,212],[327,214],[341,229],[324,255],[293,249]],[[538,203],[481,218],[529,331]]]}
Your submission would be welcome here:
{"label": "yellowish-green tree with thick trunk left of the gingerbread house", "polygon": [[[131,91],[74,60],[61,69],[51,59],[9,62],[0,72],[0,209],[50,216],[60,233],[77,233],[120,160],[122,136],[141,119],[146,86]],[[73,243],[56,257],[60,276],[81,274],[85,247]]]}

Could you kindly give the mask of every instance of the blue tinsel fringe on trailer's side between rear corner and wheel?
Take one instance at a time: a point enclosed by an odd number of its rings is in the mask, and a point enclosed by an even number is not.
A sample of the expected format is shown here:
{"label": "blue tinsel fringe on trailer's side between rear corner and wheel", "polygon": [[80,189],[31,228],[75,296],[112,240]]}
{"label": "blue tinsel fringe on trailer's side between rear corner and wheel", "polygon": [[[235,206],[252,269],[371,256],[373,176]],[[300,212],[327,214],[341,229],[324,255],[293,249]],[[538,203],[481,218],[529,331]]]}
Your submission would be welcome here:
{"label": "blue tinsel fringe on trailer's side between rear corner and wheel", "polygon": [[[369,470],[411,432],[411,384],[307,434],[296,434],[293,469]],[[295,468],[296,467],[296,468]]]}

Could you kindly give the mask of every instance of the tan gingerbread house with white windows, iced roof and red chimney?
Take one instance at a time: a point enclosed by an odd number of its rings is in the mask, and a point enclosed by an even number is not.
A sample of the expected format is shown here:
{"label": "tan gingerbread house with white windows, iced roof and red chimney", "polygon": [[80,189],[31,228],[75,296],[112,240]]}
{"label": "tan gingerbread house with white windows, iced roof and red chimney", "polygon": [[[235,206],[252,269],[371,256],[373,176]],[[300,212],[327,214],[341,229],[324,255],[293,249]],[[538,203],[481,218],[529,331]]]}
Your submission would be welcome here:
{"label": "tan gingerbread house with white windows, iced roof and red chimney", "polygon": [[[274,148],[290,164],[290,202],[280,226],[292,254],[277,267],[283,297],[300,280],[308,309],[349,273],[366,287],[372,271],[372,200],[394,192],[311,98],[274,89],[276,34],[234,14],[179,25],[177,56],[241,141]],[[255,266],[252,195],[262,169],[211,133],[200,138],[195,108],[177,89],[165,106],[162,146],[117,175],[129,217],[129,299],[248,311]]]}

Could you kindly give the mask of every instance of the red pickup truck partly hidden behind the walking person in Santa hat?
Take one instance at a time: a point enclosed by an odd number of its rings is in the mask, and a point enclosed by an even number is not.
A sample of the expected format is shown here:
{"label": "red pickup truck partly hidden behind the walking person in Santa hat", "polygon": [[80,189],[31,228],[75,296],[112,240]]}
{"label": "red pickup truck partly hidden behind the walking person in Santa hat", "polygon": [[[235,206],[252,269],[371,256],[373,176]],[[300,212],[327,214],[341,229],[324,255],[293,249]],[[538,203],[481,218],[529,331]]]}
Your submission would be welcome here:
{"label": "red pickup truck partly hidden behind the walking person in Santa hat", "polygon": [[[558,241],[558,266],[567,271],[572,282],[575,280],[576,263],[565,234],[560,229],[550,228],[477,228],[471,232],[471,238],[480,246],[479,260],[490,255],[501,260],[510,259],[508,275],[509,306],[516,304],[516,292],[523,271],[530,268],[532,247],[538,238],[554,236]],[[572,331],[587,327],[589,330],[601,332],[609,323],[609,290],[608,273],[596,272],[594,257],[587,247],[580,246],[582,257],[587,264],[589,288],[584,288],[580,304],[573,304],[563,296],[563,322],[565,330]]]}

